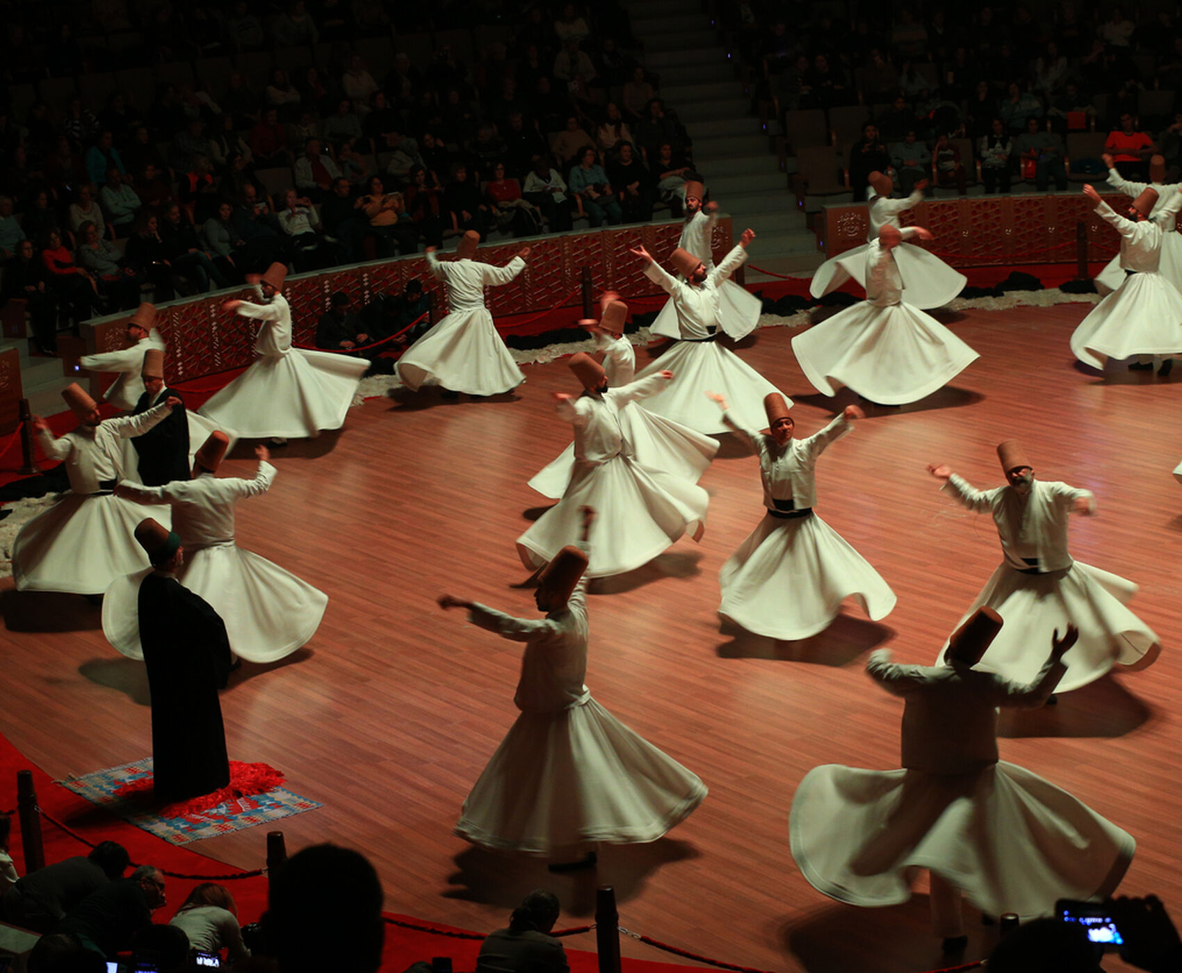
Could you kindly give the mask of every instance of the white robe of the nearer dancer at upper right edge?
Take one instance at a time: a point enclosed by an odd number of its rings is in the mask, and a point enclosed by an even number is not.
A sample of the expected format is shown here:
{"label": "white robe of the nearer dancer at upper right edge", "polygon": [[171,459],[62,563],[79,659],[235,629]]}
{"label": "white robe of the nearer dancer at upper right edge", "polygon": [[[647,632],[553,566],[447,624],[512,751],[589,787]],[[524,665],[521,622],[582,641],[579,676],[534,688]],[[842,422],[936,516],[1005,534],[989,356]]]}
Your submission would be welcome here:
{"label": "white robe of the nearer dancer at upper right edge", "polygon": [[[1175,196],[1182,202],[1182,194]],[[1134,273],[1079,322],[1071,335],[1072,353],[1100,370],[1109,358],[1182,353],[1182,294],[1158,270],[1162,228],[1149,220],[1126,220],[1105,202],[1096,213],[1121,234],[1121,267]]]}

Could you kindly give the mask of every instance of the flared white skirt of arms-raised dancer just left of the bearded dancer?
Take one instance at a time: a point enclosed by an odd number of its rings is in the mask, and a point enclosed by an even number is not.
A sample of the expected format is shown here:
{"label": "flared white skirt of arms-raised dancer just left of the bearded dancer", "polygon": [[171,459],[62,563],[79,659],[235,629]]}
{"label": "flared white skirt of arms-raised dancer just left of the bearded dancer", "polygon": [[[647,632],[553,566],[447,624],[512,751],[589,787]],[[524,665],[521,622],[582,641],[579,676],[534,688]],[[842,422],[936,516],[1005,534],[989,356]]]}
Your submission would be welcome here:
{"label": "flared white skirt of arms-raised dancer just left of the bearded dancer", "polygon": [[882,575],[816,514],[765,514],[719,572],[719,614],[756,635],[807,639],[853,597],[876,621],[895,607]]}

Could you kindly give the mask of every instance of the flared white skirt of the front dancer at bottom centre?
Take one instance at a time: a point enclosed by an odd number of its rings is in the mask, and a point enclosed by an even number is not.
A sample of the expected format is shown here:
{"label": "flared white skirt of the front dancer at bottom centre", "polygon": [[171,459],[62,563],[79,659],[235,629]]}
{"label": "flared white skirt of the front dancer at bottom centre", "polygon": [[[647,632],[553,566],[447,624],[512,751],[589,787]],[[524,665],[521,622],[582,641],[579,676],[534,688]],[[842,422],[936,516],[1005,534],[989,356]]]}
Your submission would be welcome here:
{"label": "flared white skirt of the front dancer at bottom centre", "polygon": [[649,842],[704,797],[696,775],[587,698],[517,718],[463,802],[455,834],[534,855]]}

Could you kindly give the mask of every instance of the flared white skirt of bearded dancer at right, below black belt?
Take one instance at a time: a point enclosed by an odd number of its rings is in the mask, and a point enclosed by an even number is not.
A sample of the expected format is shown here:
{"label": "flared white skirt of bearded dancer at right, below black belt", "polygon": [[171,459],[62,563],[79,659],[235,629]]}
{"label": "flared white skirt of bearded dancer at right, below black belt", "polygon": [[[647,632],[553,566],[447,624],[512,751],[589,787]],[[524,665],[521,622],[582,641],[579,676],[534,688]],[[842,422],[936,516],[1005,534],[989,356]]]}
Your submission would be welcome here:
{"label": "flared white skirt of bearded dancer at right, below black belt", "polygon": [[[1141,670],[1157,659],[1157,635],[1125,607],[1136,593],[1131,581],[1079,561],[1046,574],[1022,574],[1002,563],[956,627],[982,605],[996,610],[1006,623],[980,665],[1025,685],[1043,668],[1056,629],[1063,635],[1074,625],[1079,641],[1063,657],[1067,672],[1056,690],[1067,692],[1116,664]],[[935,665],[946,665],[947,647],[946,641]]]}

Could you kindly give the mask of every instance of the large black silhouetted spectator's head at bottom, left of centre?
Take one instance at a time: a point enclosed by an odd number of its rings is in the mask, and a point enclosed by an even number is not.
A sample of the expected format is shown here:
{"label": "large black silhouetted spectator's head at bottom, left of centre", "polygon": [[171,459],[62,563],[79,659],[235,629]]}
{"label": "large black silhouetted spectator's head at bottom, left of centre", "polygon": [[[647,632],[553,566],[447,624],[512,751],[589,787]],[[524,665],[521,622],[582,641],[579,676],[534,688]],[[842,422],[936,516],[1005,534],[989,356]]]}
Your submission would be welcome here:
{"label": "large black silhouetted spectator's head at bottom, left of centre", "polygon": [[304,848],[272,873],[261,925],[279,973],[377,973],[382,883],[357,851]]}

